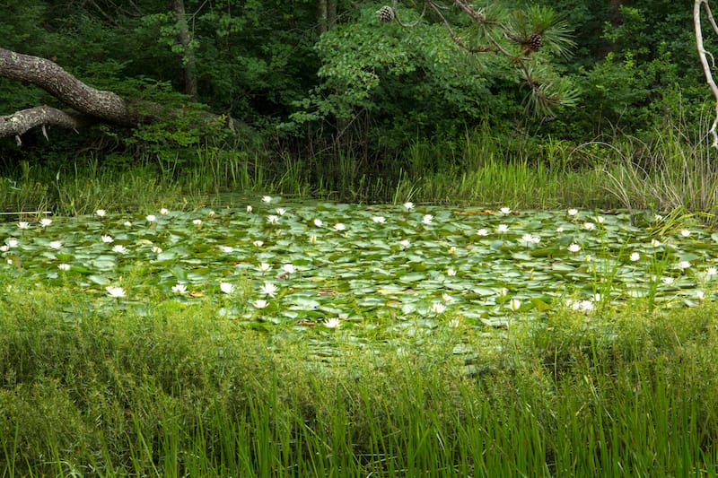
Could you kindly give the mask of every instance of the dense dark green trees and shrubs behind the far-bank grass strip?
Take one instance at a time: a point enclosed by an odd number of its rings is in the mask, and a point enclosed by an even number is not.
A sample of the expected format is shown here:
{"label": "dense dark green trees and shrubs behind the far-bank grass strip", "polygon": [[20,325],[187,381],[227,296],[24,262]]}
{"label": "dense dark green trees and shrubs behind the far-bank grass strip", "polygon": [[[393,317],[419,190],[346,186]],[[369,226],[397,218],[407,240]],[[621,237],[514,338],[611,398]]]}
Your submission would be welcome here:
{"label": "dense dark green trees and shrubs behind the far-bank grass strip", "polygon": [[[552,43],[547,32],[543,48],[533,52],[541,65],[550,65],[534,74],[541,80],[560,75],[561,89],[570,92],[563,106],[538,117],[526,108],[530,88],[515,58],[469,53],[452,40],[455,34],[470,45],[487,34],[451,2],[442,15],[429,9],[411,28],[379,22],[378,2],[171,4],[182,4],[185,14],[156,0],[11,0],[0,6],[8,19],[0,34],[5,48],[53,59],[93,86],[232,117],[230,130],[221,122],[197,128],[173,117],[132,131],[51,132],[49,143],[34,132],[22,147],[12,138],[0,142],[4,169],[19,160],[59,167],[81,151],[118,165],[156,161],[164,170],[197,161],[201,147],[280,174],[287,158],[310,171],[329,164],[354,182],[415,170],[407,156],[416,148],[426,158],[419,169],[465,169],[456,159],[457,144],[486,128],[503,144],[507,160],[521,145],[537,161],[546,158],[535,145],[549,136],[581,144],[601,135],[635,135],[651,143],[672,125],[705,129],[700,121],[708,91],[687,1],[492,2],[486,18],[521,34],[538,29],[538,12],[544,20],[556,13],[563,34],[572,35]],[[321,4],[336,10],[336,23],[320,18]],[[402,22],[418,20],[421,4],[399,2]],[[196,92],[188,87],[190,77]],[[0,79],[4,114],[43,103],[62,106],[37,88]],[[339,156],[353,162],[338,168]]]}

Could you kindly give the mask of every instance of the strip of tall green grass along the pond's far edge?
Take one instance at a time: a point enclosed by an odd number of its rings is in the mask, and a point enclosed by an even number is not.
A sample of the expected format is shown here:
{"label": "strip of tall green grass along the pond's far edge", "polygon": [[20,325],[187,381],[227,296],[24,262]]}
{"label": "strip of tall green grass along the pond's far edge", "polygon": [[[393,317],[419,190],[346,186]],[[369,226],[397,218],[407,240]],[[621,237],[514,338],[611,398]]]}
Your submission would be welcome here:
{"label": "strip of tall green grass along the pond's far edge", "polygon": [[650,141],[615,135],[578,147],[497,136],[478,127],[451,143],[417,140],[396,158],[330,147],[308,158],[287,152],[197,149],[193,161],[73,158],[60,166],[21,162],[0,172],[0,210],[92,213],[157,204],[223,204],[229,195],[282,194],[362,203],[652,209],[716,213],[715,150],[678,125]]}

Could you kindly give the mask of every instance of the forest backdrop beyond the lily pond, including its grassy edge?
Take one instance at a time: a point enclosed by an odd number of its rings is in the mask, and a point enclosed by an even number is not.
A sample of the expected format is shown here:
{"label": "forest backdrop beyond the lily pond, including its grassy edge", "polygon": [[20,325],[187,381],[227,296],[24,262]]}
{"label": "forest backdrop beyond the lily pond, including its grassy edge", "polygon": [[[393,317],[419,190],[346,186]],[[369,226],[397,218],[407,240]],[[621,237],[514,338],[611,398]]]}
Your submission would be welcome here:
{"label": "forest backdrop beyond the lily pond, including its grassy edge", "polygon": [[[42,185],[79,168],[141,170],[186,196],[253,188],[712,211],[714,198],[663,174],[703,185],[710,175],[696,169],[713,171],[703,162],[714,106],[691,3],[495,1],[474,5],[483,22],[467,5],[8,2],[4,48],[115,93],[131,114],[74,111],[64,125],[4,128],[0,174],[30,183],[5,191],[4,208],[72,212],[79,203]],[[381,22],[382,7],[396,19]],[[24,109],[67,109],[47,87],[2,76],[5,126]],[[675,152],[690,161],[674,164]],[[492,196],[501,178],[478,178],[517,168],[544,171],[540,188],[553,192],[537,198],[538,186],[519,181],[511,196]],[[465,186],[450,187],[457,181]]]}

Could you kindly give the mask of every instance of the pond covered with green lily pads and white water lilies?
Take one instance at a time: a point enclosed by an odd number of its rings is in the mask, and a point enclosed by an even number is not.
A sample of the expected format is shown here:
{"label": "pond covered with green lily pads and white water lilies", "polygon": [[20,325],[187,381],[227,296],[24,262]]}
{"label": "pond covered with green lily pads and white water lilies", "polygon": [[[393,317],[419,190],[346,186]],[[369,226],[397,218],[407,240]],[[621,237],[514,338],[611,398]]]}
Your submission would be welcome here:
{"label": "pond covered with green lily pads and white water lilies", "polygon": [[512,211],[258,198],[0,224],[0,274],[98,308],[212,300],[252,326],[504,327],[556,308],[714,300],[718,235],[626,211]]}

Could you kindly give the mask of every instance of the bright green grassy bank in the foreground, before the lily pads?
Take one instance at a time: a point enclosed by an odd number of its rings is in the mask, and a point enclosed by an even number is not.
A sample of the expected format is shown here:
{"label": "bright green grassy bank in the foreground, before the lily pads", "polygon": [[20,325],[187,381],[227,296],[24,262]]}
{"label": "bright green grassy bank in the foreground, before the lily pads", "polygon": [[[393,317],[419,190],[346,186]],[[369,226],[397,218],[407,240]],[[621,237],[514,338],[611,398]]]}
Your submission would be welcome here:
{"label": "bright green grassy bank in the foreground, before the lily pads", "polygon": [[2,287],[3,476],[714,476],[718,465],[713,304],[556,311],[508,334],[447,327],[367,347],[342,329],[241,329],[211,301],[98,312],[71,291]]}

